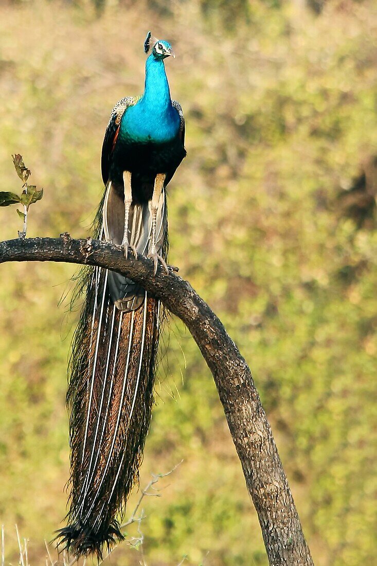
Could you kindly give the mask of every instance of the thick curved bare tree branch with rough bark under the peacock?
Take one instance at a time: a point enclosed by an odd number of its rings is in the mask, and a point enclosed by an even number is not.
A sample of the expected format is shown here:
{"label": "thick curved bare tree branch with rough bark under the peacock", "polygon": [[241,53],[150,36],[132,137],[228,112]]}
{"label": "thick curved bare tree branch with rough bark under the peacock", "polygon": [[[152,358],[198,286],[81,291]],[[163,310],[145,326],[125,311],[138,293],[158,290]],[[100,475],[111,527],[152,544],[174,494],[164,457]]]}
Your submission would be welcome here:
{"label": "thick curved bare tree branch with rough bark under the peacock", "polygon": [[5,261],[65,261],[98,265],[138,281],[188,327],[212,372],[246,485],[258,513],[269,564],[312,565],[286,475],[245,359],[211,308],[191,285],[152,260],[125,259],[120,246],[96,240],[15,239],[0,243]]}

